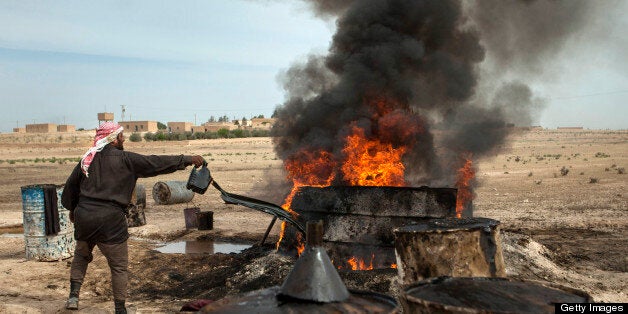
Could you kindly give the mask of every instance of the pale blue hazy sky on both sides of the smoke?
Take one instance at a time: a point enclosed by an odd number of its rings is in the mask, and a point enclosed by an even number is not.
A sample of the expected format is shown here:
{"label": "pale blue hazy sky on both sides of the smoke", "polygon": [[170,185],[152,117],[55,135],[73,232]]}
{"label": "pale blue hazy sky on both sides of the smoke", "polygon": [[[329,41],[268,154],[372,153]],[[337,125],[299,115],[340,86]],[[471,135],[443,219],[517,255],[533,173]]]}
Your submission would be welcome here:
{"label": "pale blue hazy sky on both sides of the smoke", "polygon": [[[628,1],[530,82],[544,127],[628,129]],[[300,1],[0,1],[0,132],[30,123],[269,117],[277,75],[324,54],[334,22]],[[551,64],[551,63],[550,63]]]}

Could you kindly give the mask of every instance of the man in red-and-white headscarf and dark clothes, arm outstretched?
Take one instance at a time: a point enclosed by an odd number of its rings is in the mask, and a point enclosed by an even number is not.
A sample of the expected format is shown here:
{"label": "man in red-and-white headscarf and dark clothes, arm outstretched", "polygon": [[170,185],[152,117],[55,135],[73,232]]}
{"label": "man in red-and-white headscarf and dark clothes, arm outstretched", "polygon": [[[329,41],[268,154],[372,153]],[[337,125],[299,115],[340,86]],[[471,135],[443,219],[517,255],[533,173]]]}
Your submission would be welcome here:
{"label": "man in red-and-white headscarf and dark clothes, arm outstretched", "polygon": [[198,155],[145,156],[126,152],[123,130],[117,123],[101,124],[92,147],[74,168],[63,189],[61,203],[70,210],[76,239],[67,309],[78,309],[79,290],[93,258],[92,250],[98,246],[111,269],[115,312],[126,313],[129,238],[126,209],[137,179],[205,163]]}

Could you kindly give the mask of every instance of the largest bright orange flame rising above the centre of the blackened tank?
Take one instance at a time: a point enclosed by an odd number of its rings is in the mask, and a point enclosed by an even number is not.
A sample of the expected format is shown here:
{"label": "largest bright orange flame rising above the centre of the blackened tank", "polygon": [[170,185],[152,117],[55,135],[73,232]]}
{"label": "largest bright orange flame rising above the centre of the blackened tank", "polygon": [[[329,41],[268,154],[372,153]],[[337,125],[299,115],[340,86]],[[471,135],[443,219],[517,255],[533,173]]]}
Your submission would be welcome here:
{"label": "largest bright orange flame rising above the centre of the blackened tank", "polygon": [[405,147],[394,148],[377,139],[367,139],[364,130],[353,127],[343,149],[346,162],[342,165],[344,179],[350,185],[405,186],[405,166],[401,157]]}

